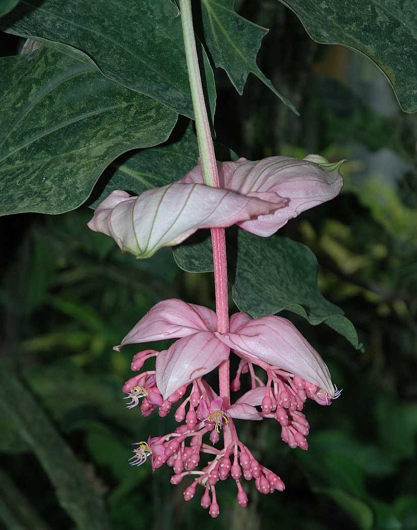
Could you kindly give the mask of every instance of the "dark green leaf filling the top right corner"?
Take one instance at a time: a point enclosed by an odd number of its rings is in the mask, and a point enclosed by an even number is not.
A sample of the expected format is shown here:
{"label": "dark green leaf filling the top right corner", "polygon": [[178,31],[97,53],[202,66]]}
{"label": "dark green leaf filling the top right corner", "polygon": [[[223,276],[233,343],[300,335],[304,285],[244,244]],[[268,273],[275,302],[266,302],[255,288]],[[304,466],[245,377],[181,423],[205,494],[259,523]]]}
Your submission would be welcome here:
{"label": "dark green leaf filling the top right corner", "polygon": [[417,11],[396,0],[280,0],[301,20],[312,39],[341,44],[366,55],[384,72],[399,104],[417,110]]}

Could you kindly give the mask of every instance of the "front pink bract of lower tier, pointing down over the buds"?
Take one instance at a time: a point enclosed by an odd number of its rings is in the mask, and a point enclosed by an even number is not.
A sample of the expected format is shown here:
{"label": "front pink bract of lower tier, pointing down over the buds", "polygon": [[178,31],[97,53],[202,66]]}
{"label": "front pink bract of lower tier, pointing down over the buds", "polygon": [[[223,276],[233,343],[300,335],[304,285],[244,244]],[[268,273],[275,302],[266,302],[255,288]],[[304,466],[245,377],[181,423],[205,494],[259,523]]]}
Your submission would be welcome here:
{"label": "front pink bract of lower tier, pointing down over the buds", "polygon": [[229,357],[229,348],[211,331],[201,331],[177,340],[157,357],[157,386],[167,399],[188,384],[219,366]]}

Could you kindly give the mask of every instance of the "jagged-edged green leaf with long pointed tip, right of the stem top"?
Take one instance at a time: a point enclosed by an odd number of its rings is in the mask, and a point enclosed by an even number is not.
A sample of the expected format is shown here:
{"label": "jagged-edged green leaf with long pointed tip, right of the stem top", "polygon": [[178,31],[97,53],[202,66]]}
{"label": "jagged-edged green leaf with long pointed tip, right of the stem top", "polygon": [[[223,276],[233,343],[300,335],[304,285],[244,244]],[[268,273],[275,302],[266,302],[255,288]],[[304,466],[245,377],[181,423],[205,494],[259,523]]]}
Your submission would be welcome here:
{"label": "jagged-edged green leaf with long pointed tip, right of the stem top", "polygon": [[243,93],[247,77],[255,74],[268,89],[298,114],[256,64],[260,42],[266,28],[244,19],[234,11],[235,0],[202,0],[204,36],[216,66],[223,68],[239,94]]}

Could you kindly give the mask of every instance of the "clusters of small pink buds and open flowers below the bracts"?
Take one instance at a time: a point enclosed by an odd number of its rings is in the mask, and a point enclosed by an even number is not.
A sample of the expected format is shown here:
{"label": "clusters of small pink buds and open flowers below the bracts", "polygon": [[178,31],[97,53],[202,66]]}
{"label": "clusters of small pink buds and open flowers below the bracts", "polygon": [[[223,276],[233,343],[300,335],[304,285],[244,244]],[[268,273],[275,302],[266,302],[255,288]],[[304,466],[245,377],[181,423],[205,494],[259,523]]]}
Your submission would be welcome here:
{"label": "clusters of small pink buds and open flowers below the bracts", "polygon": [[[158,352],[154,350],[139,352],[133,358],[132,368],[141,369],[146,359],[157,355]],[[184,490],[184,499],[191,500],[195,496],[197,485],[200,484],[204,488],[201,506],[208,508],[212,517],[217,517],[220,513],[215,485],[229,476],[236,482],[237,500],[242,507],[248,504],[247,494],[242,488],[242,479],[254,479],[260,493],[283,491],[285,485],[280,477],[259,464],[248,447],[239,440],[232,418],[247,417],[242,415],[238,406],[243,404],[246,407],[244,412],[247,412],[249,407],[258,415],[257,418],[247,419],[276,419],[281,426],[283,441],[292,448],[300,447],[306,450],[309,424],[301,412],[306,399],[310,398],[322,405],[329,404],[331,399],[325,391],[297,375],[276,367],[265,367],[264,364],[263,368],[267,375],[266,385],[255,375],[254,364],[241,359],[236,377],[231,382],[231,389],[240,389],[241,374],[245,373],[250,376],[252,388],[229,408],[224,407],[223,399],[215,394],[203,378],[180,387],[166,400],[158,390],[154,371],[147,370],[129,379],[123,387],[127,393],[125,399],[130,400],[128,409],[136,407],[141,400],[140,409],[143,416],[149,416],[158,408],[159,415],[164,417],[170,412],[172,405],[182,400],[175,410],[175,419],[184,422],[174,432],[135,444],[134,455],[130,459],[131,465],[141,465],[150,458],[154,471],[167,464],[174,472],[171,477],[172,484],[179,484],[185,476],[192,476],[194,480]],[[334,397],[339,393],[336,392]],[[230,429],[232,442],[227,447],[218,449],[214,445],[219,442],[222,429]],[[211,445],[205,444],[203,437],[208,437]],[[212,459],[197,470],[204,453],[211,455]]]}

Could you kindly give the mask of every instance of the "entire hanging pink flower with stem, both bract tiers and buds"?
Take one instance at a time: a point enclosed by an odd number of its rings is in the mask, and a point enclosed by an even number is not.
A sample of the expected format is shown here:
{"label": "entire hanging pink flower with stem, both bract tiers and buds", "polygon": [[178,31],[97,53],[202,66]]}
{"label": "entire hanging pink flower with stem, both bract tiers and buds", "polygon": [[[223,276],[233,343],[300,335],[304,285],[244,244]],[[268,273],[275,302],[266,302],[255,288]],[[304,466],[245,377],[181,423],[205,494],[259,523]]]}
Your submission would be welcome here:
{"label": "entire hanging pink flower with stem, both bract tiers and buds", "polygon": [[[180,10],[201,158],[177,182],[135,197],[113,191],[97,207],[89,227],[113,237],[121,250],[137,258],[177,245],[199,228],[211,229],[216,311],[179,299],[159,302],[115,349],[177,339],[167,350],[145,349],[132,360],[132,370],[139,373],[123,387],[127,408],[139,406],[143,416],[158,409],[161,417],[175,408],[180,425],[135,444],[131,464],[141,465],[149,458],[152,470],[171,466],[172,484],[192,480],[184,490],[185,500],[201,486],[201,506],[217,517],[219,480],[231,476],[242,507],[248,504],[242,478],[254,479],[265,494],[285,488],[277,470],[259,463],[242,443],[233,420],[273,419],[286,444],[306,450],[309,423],[302,411],[307,398],[329,405],[340,393],[322,357],[289,320],[253,319],[244,312],[229,319],[224,228],[237,224],[258,236],[270,236],[302,211],[336,197],[342,178],[340,163],[330,164],[317,155],[216,162],[190,0],[180,0]],[[240,358],[233,378],[231,351]],[[218,370],[219,394],[204,378],[213,370]],[[250,390],[232,403],[230,393],[240,390],[242,375]]]}

